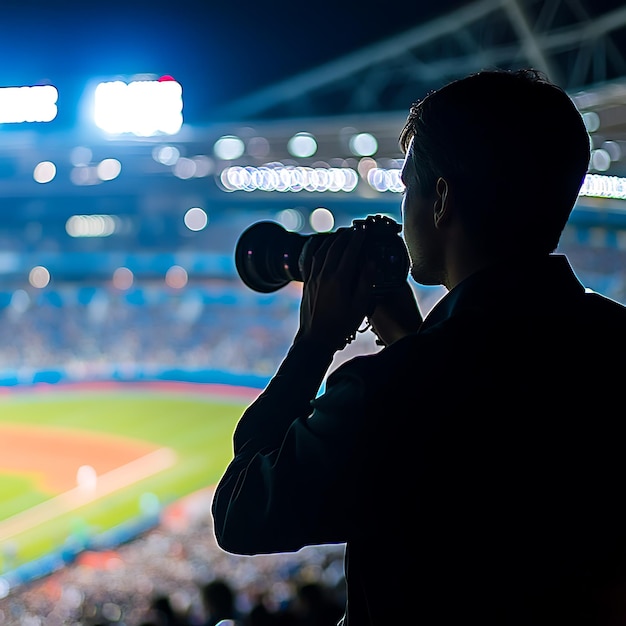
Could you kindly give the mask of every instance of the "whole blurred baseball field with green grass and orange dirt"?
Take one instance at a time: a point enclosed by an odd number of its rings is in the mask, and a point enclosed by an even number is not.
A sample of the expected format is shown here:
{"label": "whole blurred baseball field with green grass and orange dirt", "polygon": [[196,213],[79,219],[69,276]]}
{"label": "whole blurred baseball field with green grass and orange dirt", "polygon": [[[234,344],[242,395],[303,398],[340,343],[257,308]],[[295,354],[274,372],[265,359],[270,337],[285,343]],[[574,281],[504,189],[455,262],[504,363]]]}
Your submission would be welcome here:
{"label": "whole blurred baseball field with green grass and orange dirt", "polygon": [[0,389],[0,574],[214,485],[258,389]]}

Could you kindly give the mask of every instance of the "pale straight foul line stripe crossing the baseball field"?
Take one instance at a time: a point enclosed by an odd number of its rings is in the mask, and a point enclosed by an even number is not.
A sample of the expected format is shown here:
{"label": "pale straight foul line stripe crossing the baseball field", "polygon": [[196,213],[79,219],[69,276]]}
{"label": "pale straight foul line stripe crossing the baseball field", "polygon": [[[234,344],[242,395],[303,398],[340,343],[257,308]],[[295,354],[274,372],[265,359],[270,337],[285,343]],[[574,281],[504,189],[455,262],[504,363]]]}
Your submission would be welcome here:
{"label": "pale straight foul line stripe crossing the baseball field", "polygon": [[176,454],[170,448],[159,448],[138,459],[97,476],[89,487],[77,486],[26,511],[0,522],[0,541],[39,526],[59,515],[93,502],[138,480],[172,467]]}

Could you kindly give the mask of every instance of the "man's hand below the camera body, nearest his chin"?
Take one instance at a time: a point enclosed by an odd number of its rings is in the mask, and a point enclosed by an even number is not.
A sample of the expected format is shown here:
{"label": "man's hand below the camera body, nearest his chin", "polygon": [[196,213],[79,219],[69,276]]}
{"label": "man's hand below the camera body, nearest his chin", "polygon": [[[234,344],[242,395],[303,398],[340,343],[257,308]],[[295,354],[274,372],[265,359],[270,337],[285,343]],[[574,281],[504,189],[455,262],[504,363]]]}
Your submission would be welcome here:
{"label": "man's hand below the camera body, nearest his chin", "polygon": [[408,282],[376,300],[369,316],[372,330],[384,346],[417,331],[422,323],[415,294]]}

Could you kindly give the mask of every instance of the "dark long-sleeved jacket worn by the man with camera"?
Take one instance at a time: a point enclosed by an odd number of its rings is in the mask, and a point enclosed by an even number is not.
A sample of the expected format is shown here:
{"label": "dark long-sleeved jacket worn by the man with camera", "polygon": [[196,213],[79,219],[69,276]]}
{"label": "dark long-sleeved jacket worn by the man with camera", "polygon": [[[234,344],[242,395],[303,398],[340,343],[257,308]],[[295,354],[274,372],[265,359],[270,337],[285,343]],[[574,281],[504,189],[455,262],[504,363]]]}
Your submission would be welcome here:
{"label": "dark long-sleeved jacket worn by the man with camera", "polygon": [[561,255],[474,274],[316,399],[329,357],[296,344],[237,426],[217,540],[345,543],[347,626],[622,623],[625,359],[626,307]]}

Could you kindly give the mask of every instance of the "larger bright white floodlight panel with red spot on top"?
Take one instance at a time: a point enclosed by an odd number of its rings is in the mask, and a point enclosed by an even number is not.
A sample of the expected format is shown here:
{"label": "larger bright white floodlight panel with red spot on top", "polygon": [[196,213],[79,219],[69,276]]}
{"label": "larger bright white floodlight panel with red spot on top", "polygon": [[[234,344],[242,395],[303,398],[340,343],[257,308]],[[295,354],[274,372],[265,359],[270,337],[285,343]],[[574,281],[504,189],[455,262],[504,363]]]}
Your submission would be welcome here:
{"label": "larger bright white floodlight panel with red spot on top", "polygon": [[180,83],[169,76],[102,82],[95,89],[94,121],[112,135],[175,135],[183,125],[182,93]]}

